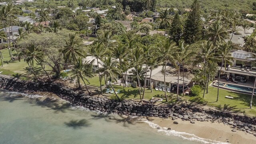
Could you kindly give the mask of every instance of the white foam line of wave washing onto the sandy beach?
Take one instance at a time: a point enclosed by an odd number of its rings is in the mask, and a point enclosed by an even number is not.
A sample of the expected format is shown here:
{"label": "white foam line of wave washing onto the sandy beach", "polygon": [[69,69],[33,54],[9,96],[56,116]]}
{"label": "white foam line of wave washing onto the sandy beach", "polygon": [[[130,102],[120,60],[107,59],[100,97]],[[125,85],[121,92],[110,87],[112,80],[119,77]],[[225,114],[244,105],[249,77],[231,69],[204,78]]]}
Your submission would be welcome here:
{"label": "white foam line of wave washing onto the sandy beach", "polygon": [[179,138],[182,138],[183,140],[190,140],[190,141],[193,141],[193,142],[200,142],[200,143],[203,143],[203,144],[229,144],[229,143],[226,143],[226,142],[218,142],[218,141],[215,141],[215,140],[200,138],[200,137],[198,137],[194,134],[188,134],[186,132],[177,132],[175,130],[167,130],[168,128],[160,127],[158,124],[154,124],[153,122],[149,122],[147,120],[145,120],[144,122],[152,128],[157,128],[158,132],[162,132],[162,133],[164,133],[168,136],[179,137]]}

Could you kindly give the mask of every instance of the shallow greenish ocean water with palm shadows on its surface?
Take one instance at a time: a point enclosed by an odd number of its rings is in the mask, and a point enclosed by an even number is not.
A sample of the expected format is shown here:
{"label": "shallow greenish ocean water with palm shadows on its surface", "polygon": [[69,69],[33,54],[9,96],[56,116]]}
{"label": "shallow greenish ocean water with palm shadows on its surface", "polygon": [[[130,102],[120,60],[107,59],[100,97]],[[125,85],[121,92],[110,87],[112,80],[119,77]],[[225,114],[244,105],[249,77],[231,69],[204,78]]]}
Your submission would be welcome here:
{"label": "shallow greenish ocean water with palm shadows on its surface", "polygon": [[72,107],[64,100],[0,89],[0,144],[220,143],[158,127]]}

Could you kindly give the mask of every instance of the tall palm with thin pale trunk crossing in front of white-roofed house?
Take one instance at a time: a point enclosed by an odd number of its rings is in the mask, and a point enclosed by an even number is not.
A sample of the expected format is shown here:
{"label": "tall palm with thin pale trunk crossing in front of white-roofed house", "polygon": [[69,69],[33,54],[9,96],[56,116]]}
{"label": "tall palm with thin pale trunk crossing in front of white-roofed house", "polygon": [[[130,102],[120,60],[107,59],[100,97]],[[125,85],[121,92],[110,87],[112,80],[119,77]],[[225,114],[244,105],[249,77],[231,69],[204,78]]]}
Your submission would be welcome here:
{"label": "tall palm with thin pale trunk crossing in front of white-roofed house", "polygon": [[[87,56],[93,56],[97,60],[97,66],[99,69],[99,60],[108,54],[108,51],[106,51],[102,45],[102,43],[96,42],[96,44],[92,45],[92,47],[89,49]],[[100,76],[100,71],[98,70],[99,74],[99,80],[100,80],[100,93],[102,94],[102,79]]]}

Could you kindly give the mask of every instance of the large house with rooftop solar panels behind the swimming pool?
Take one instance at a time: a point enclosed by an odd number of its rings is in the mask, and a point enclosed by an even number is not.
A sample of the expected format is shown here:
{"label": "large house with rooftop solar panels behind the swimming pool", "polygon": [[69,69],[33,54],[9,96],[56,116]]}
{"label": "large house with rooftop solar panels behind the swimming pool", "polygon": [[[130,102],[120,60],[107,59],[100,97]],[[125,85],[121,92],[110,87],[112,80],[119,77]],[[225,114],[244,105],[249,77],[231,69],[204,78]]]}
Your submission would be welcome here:
{"label": "large house with rooftop solar panels behind the swimming pool", "polygon": [[232,64],[221,70],[222,82],[232,82],[239,85],[254,86],[256,76],[256,63],[251,52],[236,50],[231,52]]}

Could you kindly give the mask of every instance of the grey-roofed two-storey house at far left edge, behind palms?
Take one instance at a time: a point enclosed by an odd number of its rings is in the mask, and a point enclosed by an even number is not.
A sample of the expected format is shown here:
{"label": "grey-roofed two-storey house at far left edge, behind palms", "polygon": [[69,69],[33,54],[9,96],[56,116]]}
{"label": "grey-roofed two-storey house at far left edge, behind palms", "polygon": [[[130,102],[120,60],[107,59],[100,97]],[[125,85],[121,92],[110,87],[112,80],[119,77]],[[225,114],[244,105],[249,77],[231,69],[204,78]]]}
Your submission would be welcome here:
{"label": "grey-roofed two-storey house at far left edge, behind palms", "polygon": [[[2,28],[0,29],[0,31],[4,31],[6,32],[7,31],[7,36],[8,36],[8,42],[13,42],[14,40],[16,40],[18,38],[18,34],[19,34],[19,28],[23,28],[23,27],[20,27],[20,26],[10,26],[10,27],[7,27],[7,28]],[[25,28],[23,28],[23,30],[25,30]],[[5,39],[0,39],[0,44],[5,44],[7,43],[7,40]]]}

